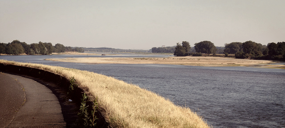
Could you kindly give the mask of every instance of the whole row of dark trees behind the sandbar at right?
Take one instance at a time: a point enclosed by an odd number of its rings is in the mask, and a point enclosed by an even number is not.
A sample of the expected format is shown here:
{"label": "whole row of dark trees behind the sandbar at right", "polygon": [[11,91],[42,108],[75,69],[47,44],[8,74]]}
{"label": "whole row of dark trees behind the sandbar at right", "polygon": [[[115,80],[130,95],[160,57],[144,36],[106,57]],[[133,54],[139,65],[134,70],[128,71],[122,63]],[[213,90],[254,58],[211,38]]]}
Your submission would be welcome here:
{"label": "whole row of dark trees behind the sandbar at right", "polygon": [[[235,54],[235,58],[239,59],[270,59],[270,60],[285,60],[285,42],[268,43],[266,45],[258,44],[253,41],[232,42],[225,44],[225,47],[216,47],[210,41],[202,41],[194,44],[195,52],[191,52],[189,42],[183,41],[182,44],[177,43],[174,55],[176,56],[199,56],[201,53],[215,54],[224,53],[227,57],[228,54]],[[223,49],[223,50],[222,50]]]}

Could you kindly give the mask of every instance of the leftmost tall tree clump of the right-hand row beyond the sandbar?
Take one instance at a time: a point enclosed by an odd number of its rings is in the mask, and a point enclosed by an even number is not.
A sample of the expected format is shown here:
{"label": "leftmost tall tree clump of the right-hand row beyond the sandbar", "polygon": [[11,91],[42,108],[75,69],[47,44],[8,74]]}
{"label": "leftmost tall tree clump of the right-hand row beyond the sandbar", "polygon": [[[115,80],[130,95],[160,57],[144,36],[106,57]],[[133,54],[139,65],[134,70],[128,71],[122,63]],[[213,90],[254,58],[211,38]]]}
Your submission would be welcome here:
{"label": "leftmost tall tree clump of the right-hand row beyond the sandbar", "polygon": [[187,56],[190,52],[190,44],[187,41],[183,41],[182,45],[180,43],[176,43],[174,55],[176,56]]}

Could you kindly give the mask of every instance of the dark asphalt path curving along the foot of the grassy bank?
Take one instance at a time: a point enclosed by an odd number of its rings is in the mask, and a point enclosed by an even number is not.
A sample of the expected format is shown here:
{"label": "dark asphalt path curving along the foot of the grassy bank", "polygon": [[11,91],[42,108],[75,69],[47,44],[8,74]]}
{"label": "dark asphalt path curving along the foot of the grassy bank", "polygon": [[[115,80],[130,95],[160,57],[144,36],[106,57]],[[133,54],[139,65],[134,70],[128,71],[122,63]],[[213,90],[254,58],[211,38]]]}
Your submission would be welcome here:
{"label": "dark asphalt path curving along the foot of the grassy bank", "polygon": [[52,91],[35,80],[0,74],[0,127],[66,127]]}

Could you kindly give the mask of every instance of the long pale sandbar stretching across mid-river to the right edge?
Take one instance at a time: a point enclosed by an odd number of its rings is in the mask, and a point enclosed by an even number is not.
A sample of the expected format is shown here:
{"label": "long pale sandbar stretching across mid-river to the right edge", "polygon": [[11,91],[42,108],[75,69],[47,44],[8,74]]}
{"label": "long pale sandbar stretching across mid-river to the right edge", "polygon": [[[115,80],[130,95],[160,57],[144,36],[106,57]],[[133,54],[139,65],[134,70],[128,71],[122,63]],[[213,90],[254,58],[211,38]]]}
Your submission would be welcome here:
{"label": "long pale sandbar stretching across mid-river to the right edge", "polygon": [[45,59],[48,61],[61,61],[72,63],[88,64],[172,64],[172,65],[192,65],[192,66],[254,66],[254,67],[280,67],[285,69],[285,65],[271,65],[276,63],[268,60],[234,59],[227,57],[167,57],[167,58],[131,58],[131,57],[86,57],[86,58],[54,58]]}

